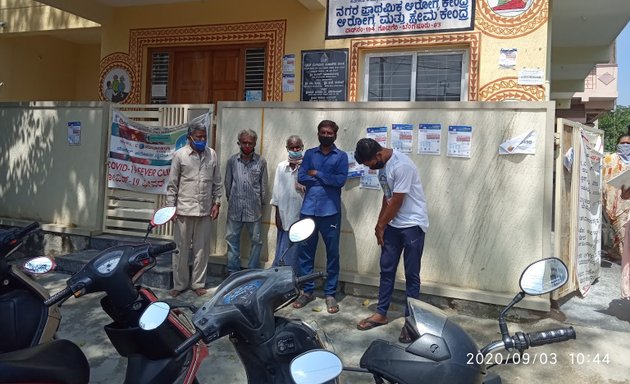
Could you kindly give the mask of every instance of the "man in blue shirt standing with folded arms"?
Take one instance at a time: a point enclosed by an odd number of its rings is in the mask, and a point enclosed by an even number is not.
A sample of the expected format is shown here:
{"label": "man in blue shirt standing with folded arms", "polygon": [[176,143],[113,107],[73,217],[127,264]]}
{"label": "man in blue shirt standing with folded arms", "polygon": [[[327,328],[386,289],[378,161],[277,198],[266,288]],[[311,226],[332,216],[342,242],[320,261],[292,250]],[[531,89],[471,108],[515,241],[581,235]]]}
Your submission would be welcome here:
{"label": "man in blue shirt standing with folded arms", "polygon": [[[300,216],[315,221],[316,232],[321,233],[326,244],[326,272],[324,286],[328,313],[339,312],[335,299],[339,281],[339,236],[341,235],[341,187],[348,177],[348,155],[335,146],[339,127],[334,121],[323,120],[317,126],[319,147],[304,154],[298,171],[298,182],[306,187]],[[315,253],[319,236],[311,236],[303,245],[299,255],[299,275],[313,273]],[[293,303],[302,308],[315,300],[313,282],[306,283],[302,294]]]}

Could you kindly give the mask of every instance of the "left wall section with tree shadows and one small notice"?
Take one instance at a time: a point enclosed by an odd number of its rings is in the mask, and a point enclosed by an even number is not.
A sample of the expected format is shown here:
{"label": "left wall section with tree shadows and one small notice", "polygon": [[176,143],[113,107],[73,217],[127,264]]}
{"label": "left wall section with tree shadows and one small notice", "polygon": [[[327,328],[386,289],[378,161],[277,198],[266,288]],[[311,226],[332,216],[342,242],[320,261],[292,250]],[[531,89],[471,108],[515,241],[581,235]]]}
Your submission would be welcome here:
{"label": "left wall section with tree shadows and one small notice", "polygon": [[[99,230],[106,103],[0,103],[0,217]],[[80,145],[68,122],[81,123]]]}

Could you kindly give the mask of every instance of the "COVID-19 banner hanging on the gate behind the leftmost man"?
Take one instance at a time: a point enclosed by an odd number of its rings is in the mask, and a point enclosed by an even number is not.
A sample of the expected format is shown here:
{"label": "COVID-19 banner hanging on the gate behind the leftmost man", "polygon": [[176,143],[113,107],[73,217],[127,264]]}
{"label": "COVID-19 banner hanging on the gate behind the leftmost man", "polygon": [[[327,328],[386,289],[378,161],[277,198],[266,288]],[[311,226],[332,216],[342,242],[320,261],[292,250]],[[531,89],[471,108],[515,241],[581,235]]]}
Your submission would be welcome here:
{"label": "COVID-19 banner hanging on the gate behind the leftmost man", "polygon": [[173,127],[149,127],[114,110],[107,186],[153,194],[166,193],[173,154],[187,144],[188,127],[199,124],[207,132],[210,114]]}

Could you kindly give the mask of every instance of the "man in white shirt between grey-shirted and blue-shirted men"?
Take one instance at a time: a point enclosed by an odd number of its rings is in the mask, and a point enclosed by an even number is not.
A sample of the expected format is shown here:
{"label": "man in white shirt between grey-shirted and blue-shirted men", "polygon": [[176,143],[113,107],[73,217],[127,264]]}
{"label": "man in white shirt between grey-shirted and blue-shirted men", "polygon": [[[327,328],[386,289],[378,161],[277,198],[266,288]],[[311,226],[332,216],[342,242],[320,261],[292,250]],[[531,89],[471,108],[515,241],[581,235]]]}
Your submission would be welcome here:
{"label": "man in white shirt between grey-shirted and blue-shirted men", "polygon": [[[304,157],[304,144],[297,135],[286,143],[288,159],[278,163],[273,182],[271,205],[276,207],[276,257],[273,266],[290,265],[297,272],[297,253],[286,254],[289,248],[289,227],[300,219],[305,187],[297,182],[297,173]],[[283,256],[284,255],[284,256]]]}

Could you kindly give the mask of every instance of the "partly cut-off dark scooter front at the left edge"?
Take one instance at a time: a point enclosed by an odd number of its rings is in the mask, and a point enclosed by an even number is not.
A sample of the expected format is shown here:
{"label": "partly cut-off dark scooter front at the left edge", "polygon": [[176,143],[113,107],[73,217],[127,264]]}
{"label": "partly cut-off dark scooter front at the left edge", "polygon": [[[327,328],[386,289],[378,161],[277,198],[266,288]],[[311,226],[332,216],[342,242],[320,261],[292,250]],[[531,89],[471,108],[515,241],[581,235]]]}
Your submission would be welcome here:
{"label": "partly cut-off dark scooter front at the left edge", "polygon": [[0,231],[0,353],[50,341],[59,329],[59,307],[44,304],[50,297],[48,291],[7,262],[24,239],[38,230],[39,224],[34,222]]}

